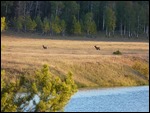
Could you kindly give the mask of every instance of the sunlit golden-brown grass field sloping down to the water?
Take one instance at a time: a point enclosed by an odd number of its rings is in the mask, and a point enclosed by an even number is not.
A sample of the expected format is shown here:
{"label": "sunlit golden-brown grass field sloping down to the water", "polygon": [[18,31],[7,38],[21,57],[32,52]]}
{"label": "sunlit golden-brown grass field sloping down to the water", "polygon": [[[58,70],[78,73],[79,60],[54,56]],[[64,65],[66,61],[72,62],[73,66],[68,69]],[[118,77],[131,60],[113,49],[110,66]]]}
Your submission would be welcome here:
{"label": "sunlit golden-brown grass field sloping down to the water", "polygon": [[[11,81],[22,74],[32,79],[34,70],[43,64],[48,64],[51,73],[60,77],[71,71],[79,87],[145,85],[149,81],[149,75],[145,77],[132,68],[136,61],[148,65],[149,42],[86,41],[78,37],[63,40],[14,34],[2,34],[1,41],[1,68]],[[43,49],[42,45],[48,49]],[[96,50],[94,45],[101,50]],[[122,55],[112,54],[117,50]]]}

